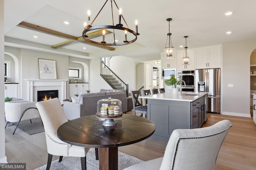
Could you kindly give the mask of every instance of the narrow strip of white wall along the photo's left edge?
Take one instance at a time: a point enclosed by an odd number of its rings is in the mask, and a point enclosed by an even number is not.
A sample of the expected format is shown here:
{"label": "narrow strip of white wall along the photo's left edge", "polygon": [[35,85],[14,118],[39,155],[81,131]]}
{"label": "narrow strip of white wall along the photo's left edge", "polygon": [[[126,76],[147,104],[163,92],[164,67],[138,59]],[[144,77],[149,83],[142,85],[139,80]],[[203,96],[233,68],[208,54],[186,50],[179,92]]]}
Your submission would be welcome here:
{"label": "narrow strip of white wall along the photo's left edge", "polygon": [[[0,65],[4,65],[4,0],[0,0]],[[0,73],[4,67],[0,67]],[[5,130],[4,130],[4,75],[0,79],[0,163],[6,163],[5,156]]]}

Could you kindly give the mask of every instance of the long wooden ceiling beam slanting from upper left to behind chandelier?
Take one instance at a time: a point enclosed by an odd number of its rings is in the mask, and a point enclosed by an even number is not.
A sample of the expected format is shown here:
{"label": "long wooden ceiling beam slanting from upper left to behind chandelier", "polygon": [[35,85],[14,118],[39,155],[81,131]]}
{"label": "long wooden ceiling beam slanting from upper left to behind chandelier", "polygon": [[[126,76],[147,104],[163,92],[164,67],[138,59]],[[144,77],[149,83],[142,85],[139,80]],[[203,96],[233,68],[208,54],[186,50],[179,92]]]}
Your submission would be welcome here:
{"label": "long wooden ceiling beam slanting from upper left to behind chandelier", "polygon": [[[41,26],[30,24],[28,22],[21,22],[17,26],[18,27],[22,27],[22,28],[26,28],[26,29],[29,29],[29,30],[33,30],[33,31],[36,31],[36,32],[42,32],[44,34],[56,36],[56,37],[59,37],[59,38],[64,38],[64,39],[72,40],[74,42],[85,43],[87,45],[92,45],[94,47],[99,47],[99,48],[107,49],[107,50],[110,50],[110,51],[114,51],[115,50],[115,48],[113,48],[113,47],[109,47],[109,46],[106,46],[106,45],[98,45],[98,44],[89,43],[89,42],[86,42],[86,41],[81,41],[81,40],[78,40],[79,37],[71,36],[71,35],[64,34],[62,32],[58,32],[58,31],[54,31],[54,30],[50,30],[48,28],[44,28],[44,27],[41,27]],[[66,43],[71,43],[71,42],[66,42]],[[64,44],[65,43],[63,43],[62,45],[64,45]]]}

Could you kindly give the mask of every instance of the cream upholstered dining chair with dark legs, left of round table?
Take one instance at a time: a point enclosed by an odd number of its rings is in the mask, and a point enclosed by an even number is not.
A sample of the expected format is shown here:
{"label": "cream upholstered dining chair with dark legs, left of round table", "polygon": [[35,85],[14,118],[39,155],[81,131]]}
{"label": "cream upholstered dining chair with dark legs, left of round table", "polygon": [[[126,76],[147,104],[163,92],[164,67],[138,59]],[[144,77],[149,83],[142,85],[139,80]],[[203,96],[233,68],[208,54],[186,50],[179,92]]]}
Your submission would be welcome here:
{"label": "cream upholstered dining chair with dark legs, left of round table", "polygon": [[82,170],[86,170],[86,153],[90,148],[68,144],[60,140],[57,136],[58,127],[68,121],[59,99],[54,98],[37,102],[36,107],[43,121],[46,136],[48,151],[46,170],[50,169],[52,155],[60,156],[59,162],[62,161],[63,156],[81,157]]}

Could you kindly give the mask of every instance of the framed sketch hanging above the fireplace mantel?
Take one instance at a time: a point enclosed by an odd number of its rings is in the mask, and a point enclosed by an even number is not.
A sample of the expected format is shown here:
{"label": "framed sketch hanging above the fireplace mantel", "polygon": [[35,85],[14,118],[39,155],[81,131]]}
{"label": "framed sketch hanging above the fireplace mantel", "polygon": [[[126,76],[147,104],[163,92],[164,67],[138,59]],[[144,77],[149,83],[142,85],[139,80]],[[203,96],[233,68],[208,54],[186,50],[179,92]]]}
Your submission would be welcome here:
{"label": "framed sketch hanging above the fireplace mantel", "polygon": [[50,59],[38,59],[39,79],[57,79],[56,61]]}

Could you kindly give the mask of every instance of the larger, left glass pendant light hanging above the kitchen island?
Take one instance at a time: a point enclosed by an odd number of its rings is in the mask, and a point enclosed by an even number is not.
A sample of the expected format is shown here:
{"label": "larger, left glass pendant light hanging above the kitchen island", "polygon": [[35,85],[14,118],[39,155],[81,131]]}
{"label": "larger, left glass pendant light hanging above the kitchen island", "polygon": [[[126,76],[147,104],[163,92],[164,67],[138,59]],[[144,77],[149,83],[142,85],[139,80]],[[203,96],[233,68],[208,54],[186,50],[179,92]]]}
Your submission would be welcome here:
{"label": "larger, left glass pendant light hanging above the kitchen island", "polygon": [[[171,38],[172,33],[170,33],[170,21],[171,20],[172,20],[172,18],[166,19],[166,21],[169,22],[169,32],[167,33],[165,48],[163,49],[163,58],[165,58],[165,59],[174,59],[175,58],[175,54],[174,54],[175,48],[172,46],[172,38]],[[168,46],[167,46],[167,41],[168,41]]]}

